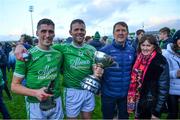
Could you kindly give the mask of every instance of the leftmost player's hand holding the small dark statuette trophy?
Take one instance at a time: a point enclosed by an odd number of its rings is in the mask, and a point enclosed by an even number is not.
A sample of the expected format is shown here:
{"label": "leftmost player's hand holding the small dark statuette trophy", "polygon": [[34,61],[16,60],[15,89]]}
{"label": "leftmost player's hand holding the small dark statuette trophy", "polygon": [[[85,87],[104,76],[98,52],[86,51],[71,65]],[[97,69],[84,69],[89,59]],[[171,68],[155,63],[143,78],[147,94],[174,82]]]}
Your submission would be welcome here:
{"label": "leftmost player's hand holding the small dark statuette trophy", "polygon": [[39,90],[36,90],[35,97],[36,97],[39,101],[44,101],[44,100],[46,100],[48,97],[53,96],[52,94],[47,94],[47,93],[45,93],[45,92],[44,92],[45,89],[46,89],[46,88],[43,87],[43,88],[41,88],[41,89],[39,89]]}

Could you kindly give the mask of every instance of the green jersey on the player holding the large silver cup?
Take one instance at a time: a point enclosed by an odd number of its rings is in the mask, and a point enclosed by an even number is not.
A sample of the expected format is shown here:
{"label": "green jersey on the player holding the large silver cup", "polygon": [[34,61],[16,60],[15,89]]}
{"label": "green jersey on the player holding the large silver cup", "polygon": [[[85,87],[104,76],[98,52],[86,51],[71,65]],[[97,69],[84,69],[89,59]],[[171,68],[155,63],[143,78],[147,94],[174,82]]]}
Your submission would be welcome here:
{"label": "green jersey on the player holding the large silver cup", "polygon": [[76,47],[71,44],[55,44],[53,48],[63,54],[63,85],[67,88],[81,89],[80,82],[92,74],[93,56],[95,48],[84,44]]}

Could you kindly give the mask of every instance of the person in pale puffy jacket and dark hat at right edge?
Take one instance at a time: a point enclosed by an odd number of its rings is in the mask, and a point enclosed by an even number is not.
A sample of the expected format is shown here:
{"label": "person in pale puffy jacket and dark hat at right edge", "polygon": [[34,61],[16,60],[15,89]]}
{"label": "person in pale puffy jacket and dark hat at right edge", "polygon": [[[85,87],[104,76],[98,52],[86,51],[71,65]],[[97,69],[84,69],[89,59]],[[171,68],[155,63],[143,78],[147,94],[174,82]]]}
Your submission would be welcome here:
{"label": "person in pale puffy jacket and dark hat at right edge", "polygon": [[179,98],[180,98],[180,30],[173,36],[173,43],[167,45],[163,51],[169,63],[170,89],[168,96],[168,117],[167,119],[178,119]]}

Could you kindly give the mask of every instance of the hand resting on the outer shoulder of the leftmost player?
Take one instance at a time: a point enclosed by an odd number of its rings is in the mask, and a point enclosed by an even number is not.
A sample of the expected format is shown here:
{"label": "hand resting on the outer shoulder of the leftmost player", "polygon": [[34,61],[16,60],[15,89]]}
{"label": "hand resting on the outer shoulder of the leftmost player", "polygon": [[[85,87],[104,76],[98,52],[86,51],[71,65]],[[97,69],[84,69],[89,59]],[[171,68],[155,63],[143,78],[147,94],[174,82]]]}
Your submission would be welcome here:
{"label": "hand resting on the outer shoulder of the leftmost player", "polygon": [[17,45],[14,51],[16,59],[24,61],[23,53],[27,53],[27,49],[23,45]]}

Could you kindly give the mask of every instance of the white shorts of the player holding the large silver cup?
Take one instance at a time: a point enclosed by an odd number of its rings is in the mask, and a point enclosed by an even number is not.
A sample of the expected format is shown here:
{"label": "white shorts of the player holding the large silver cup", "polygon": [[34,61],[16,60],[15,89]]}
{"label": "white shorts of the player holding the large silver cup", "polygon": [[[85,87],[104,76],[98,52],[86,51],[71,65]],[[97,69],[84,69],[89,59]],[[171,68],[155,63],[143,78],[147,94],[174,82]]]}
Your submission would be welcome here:
{"label": "white shorts of the player holding the large silver cup", "polygon": [[81,111],[92,112],[95,108],[94,94],[87,90],[64,88],[67,117],[77,117]]}

